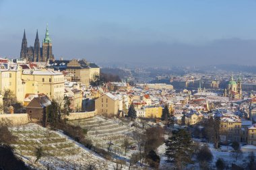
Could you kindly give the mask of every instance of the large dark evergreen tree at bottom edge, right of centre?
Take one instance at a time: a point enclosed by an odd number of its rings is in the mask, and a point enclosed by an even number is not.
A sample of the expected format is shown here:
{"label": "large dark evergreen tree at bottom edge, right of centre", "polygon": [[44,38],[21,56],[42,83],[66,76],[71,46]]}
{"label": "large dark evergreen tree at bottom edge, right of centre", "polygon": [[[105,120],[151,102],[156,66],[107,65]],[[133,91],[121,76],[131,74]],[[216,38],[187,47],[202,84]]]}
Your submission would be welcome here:
{"label": "large dark evergreen tree at bottom edge, right of centre", "polygon": [[172,136],[166,141],[166,146],[164,155],[166,155],[168,162],[175,163],[177,169],[181,170],[187,163],[192,163],[192,141],[186,130],[173,131]]}

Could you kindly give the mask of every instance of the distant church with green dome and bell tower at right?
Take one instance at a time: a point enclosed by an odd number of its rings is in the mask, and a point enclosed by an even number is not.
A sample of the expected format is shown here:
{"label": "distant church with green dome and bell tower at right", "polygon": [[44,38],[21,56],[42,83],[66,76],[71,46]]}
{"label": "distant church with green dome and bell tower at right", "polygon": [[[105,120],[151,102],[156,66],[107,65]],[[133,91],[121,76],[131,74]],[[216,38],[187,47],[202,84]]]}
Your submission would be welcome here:
{"label": "distant church with green dome and bell tower at right", "polygon": [[238,77],[236,82],[231,75],[230,81],[228,81],[227,88],[224,89],[224,96],[231,97],[232,99],[242,98],[242,79],[240,76]]}

